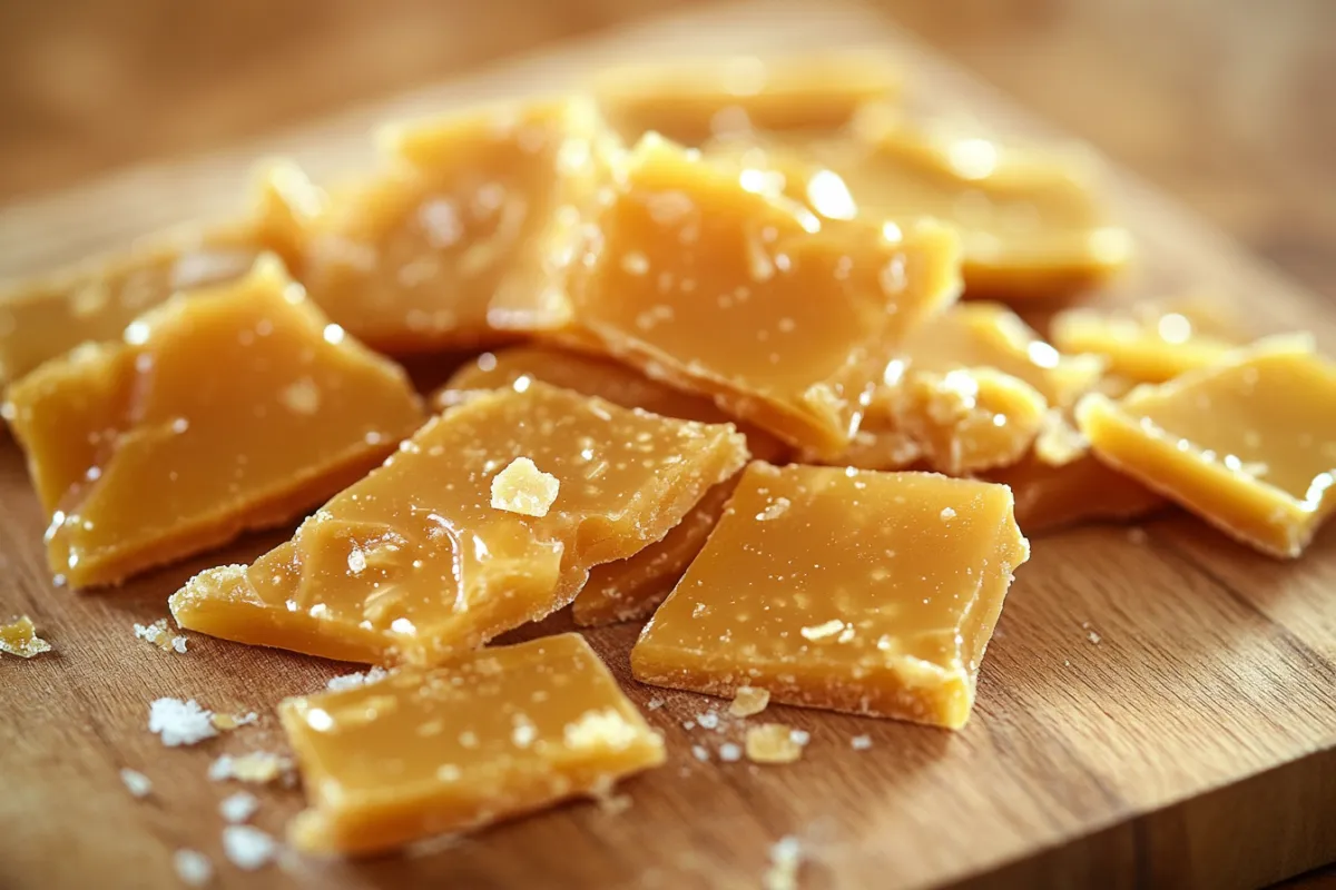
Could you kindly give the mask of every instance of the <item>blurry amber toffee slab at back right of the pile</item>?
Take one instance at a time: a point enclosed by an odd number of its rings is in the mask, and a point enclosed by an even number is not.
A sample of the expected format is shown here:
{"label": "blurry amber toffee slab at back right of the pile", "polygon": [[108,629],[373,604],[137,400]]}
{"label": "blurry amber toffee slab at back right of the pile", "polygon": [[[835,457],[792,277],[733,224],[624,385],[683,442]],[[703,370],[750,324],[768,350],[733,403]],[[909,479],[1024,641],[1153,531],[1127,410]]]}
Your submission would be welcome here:
{"label": "blurry amber toffee slab at back right of the pile", "polygon": [[860,109],[846,136],[725,139],[707,155],[755,169],[824,219],[950,223],[970,298],[1015,304],[1067,294],[1108,279],[1132,255],[1083,160],[977,128],[915,123],[882,104]]}

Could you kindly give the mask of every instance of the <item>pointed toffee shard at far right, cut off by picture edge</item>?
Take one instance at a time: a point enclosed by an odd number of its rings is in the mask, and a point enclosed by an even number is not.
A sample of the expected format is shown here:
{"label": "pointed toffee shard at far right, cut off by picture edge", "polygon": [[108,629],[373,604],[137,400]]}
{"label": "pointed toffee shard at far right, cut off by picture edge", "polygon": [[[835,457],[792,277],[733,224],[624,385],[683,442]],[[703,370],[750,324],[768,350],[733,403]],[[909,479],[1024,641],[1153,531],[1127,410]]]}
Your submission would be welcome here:
{"label": "pointed toffee shard at far right, cut off by picture edge", "polygon": [[1297,556],[1336,498],[1336,367],[1307,338],[1273,338],[1077,422],[1094,452],[1275,556]]}

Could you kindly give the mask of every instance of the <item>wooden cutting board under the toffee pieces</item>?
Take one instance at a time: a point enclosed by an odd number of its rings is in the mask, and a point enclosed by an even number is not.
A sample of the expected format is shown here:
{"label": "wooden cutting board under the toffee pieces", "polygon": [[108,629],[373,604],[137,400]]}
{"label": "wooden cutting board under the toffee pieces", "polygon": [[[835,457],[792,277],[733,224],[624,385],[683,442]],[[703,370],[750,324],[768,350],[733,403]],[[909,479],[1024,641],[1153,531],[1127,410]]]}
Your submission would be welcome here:
{"label": "wooden cutting board under the toffee pieces", "polygon": [[[297,156],[315,176],[370,160],[367,127],[403,113],[574,85],[611,60],[879,47],[904,61],[915,101],[1046,133],[872,12],[758,0],[687,13],[480,71],[259,143],[131,169],[0,211],[0,274],[27,274],[160,226],[238,207],[247,167]],[[1054,72],[1054,77],[1061,77]],[[1098,101],[1098,96],[1092,96]],[[190,113],[179,109],[172,113]],[[1233,302],[1257,332],[1313,330],[1336,347],[1336,310],[1261,268],[1128,176],[1114,177],[1144,262],[1128,296],[1193,290]],[[1315,406],[1315,410],[1319,410]],[[171,854],[206,851],[215,886],[755,887],[772,843],[802,841],[803,887],[957,882],[1014,886],[1248,886],[1336,858],[1336,532],[1297,563],[1257,556],[1168,514],[1145,527],[1041,538],[989,648],[979,705],[959,734],[775,707],[811,733],[782,767],[697,762],[727,738],[683,723],[716,706],[629,679],[637,627],[588,636],[663,730],[669,762],[625,783],[625,811],[573,803],[434,851],[365,863],[294,861],[244,875],[222,862],[206,778],[222,753],[281,750],[273,705],[350,670],[198,635],[184,655],[136,640],[195,571],[242,562],[286,531],[155,572],[124,590],[51,586],[44,522],[12,442],[0,439],[0,612],[29,612],[55,655],[0,660],[0,886],[174,886]],[[518,636],[566,626],[558,615]],[[148,702],[257,710],[258,726],[164,749]],[[870,735],[870,750],[850,746]],[[119,778],[154,782],[134,799]],[[298,790],[261,791],[255,822],[281,833]]]}

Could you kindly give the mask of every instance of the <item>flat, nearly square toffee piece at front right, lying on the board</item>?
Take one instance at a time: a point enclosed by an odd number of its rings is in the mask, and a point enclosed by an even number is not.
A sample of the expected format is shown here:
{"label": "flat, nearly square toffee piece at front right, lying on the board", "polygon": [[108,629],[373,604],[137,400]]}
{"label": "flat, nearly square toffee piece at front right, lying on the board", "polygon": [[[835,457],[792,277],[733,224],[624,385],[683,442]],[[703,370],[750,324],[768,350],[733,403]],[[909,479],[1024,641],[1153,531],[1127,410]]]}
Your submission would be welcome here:
{"label": "flat, nearly square toffee piece at front right, lying on the board", "polygon": [[958,729],[1029,546],[1005,486],[752,463],[636,679]]}

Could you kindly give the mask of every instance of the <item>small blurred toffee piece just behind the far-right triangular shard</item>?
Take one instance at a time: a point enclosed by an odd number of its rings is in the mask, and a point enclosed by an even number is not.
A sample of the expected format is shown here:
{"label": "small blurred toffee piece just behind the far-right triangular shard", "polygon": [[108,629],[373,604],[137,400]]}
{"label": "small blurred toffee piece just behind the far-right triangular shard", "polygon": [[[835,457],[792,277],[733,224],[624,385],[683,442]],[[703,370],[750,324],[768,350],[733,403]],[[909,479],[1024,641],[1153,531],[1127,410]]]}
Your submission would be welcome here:
{"label": "small blurred toffee piece just behind the far-right triangular shard", "polygon": [[1225,358],[1242,342],[1237,327],[1206,303],[1137,304],[1121,312],[1063,310],[1049,326],[1063,352],[1101,355],[1112,374],[1164,383]]}

